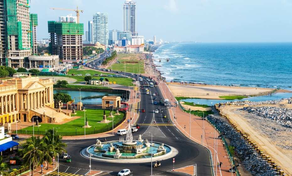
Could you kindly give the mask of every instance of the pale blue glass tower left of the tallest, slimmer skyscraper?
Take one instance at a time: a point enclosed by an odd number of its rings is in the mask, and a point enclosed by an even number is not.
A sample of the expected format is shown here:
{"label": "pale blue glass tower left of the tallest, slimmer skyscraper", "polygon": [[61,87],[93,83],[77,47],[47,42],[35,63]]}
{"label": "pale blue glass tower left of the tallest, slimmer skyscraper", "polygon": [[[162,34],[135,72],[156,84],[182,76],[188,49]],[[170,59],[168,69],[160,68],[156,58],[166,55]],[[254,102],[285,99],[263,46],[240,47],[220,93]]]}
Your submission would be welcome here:
{"label": "pale blue glass tower left of the tallest, slimmer skyscraper", "polygon": [[100,42],[100,44],[108,45],[109,31],[108,31],[108,14],[96,13],[93,15],[93,43]]}

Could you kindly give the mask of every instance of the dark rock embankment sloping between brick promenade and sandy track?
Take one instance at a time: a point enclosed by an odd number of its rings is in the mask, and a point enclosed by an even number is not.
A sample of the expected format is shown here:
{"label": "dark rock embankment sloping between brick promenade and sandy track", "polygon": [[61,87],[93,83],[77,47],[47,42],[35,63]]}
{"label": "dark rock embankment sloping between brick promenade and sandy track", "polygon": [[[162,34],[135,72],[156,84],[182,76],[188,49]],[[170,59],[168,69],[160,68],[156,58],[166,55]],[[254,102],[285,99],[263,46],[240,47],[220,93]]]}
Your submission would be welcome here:
{"label": "dark rock embankment sloping between brick promenade and sandy track", "polygon": [[225,138],[230,140],[230,145],[235,147],[235,152],[240,158],[243,166],[254,176],[275,176],[277,172],[265,161],[251,145],[246,143],[241,134],[236,132],[228,122],[214,115],[208,116],[209,120],[218,125]]}

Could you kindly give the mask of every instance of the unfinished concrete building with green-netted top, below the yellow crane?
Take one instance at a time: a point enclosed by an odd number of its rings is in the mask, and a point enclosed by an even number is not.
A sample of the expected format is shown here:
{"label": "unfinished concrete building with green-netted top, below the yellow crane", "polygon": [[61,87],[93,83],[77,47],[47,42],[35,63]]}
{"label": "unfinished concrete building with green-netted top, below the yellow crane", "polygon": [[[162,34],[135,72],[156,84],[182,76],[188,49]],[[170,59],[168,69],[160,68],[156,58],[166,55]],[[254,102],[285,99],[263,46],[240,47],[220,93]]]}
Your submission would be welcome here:
{"label": "unfinished concrete building with green-netted top, below the yellow crane", "polygon": [[59,55],[63,63],[79,63],[83,58],[83,23],[48,21],[51,36],[50,52]]}

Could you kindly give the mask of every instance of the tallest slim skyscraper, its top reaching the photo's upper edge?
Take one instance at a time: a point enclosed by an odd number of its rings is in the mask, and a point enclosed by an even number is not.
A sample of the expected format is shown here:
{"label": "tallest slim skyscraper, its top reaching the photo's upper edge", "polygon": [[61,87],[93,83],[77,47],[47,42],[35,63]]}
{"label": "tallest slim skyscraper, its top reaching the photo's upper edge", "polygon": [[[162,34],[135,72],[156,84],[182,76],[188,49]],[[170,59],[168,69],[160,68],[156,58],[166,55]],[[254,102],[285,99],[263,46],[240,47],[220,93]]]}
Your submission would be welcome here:
{"label": "tallest slim skyscraper, its top reaching the photo's upper edge", "polygon": [[131,31],[132,36],[136,33],[136,3],[133,0],[126,0],[123,4],[123,31]]}

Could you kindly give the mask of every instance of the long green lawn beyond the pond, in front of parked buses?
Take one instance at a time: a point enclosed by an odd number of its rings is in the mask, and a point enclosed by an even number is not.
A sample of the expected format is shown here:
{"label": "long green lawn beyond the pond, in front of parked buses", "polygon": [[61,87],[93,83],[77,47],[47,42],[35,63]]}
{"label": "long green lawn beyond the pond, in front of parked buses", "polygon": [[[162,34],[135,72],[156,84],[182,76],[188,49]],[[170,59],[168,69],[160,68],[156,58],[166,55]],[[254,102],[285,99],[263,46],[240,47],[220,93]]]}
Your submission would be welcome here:
{"label": "long green lawn beyond the pond, in front of parked buses", "polygon": [[[77,82],[84,82],[84,77],[85,77],[85,74],[86,73],[89,73],[91,74],[91,77],[92,78],[95,78],[95,79],[100,79],[101,77],[100,76],[93,76],[95,74],[108,74],[108,73],[103,73],[103,72],[99,72],[99,71],[95,71],[95,70],[78,70],[78,69],[70,69],[68,71],[68,75],[67,77],[70,77],[70,78],[74,78],[77,80]],[[71,74],[75,74],[75,76],[71,76]],[[82,74],[82,76],[76,76],[77,74]],[[114,75],[114,73],[112,73],[112,75]],[[132,83],[132,79],[131,78],[116,78],[116,77],[105,77],[107,78],[109,81],[111,82],[116,82],[116,84],[119,84],[119,85],[125,85],[125,86],[134,86],[134,84]]]}

